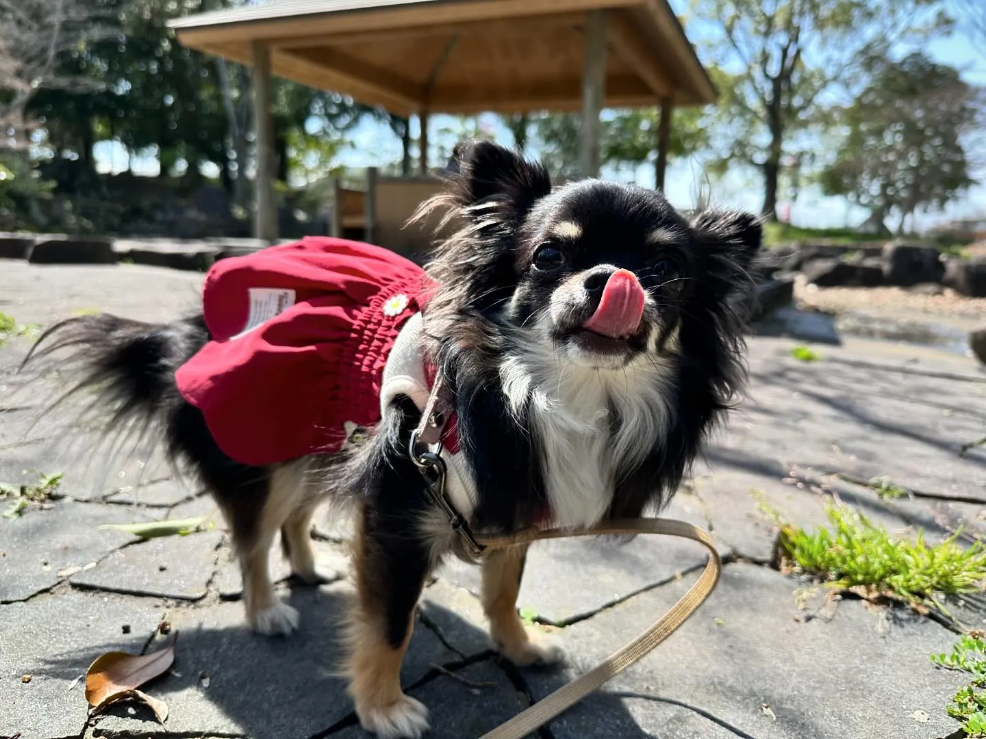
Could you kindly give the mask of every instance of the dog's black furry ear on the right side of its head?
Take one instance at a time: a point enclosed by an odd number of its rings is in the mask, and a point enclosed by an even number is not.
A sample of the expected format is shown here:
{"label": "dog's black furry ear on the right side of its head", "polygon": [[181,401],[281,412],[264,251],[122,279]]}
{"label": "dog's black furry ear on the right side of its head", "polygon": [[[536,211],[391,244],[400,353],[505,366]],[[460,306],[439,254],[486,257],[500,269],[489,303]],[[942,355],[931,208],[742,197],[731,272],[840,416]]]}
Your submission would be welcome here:
{"label": "dog's black furry ear on the right side of its head", "polygon": [[760,219],[752,213],[709,210],[695,217],[691,229],[714,298],[748,292],[749,268],[763,240]]}

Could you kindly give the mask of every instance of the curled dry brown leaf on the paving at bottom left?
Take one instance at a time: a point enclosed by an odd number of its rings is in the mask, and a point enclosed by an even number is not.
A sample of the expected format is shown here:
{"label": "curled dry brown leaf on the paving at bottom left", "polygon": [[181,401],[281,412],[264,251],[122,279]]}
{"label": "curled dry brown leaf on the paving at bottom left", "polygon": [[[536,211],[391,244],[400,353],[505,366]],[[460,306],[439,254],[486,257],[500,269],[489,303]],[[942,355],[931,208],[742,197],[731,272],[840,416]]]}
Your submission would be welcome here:
{"label": "curled dry brown leaf on the paving at bottom left", "polygon": [[164,721],[161,716],[168,716],[168,706],[136,689],[172,666],[176,638],[177,632],[163,649],[150,654],[110,651],[97,657],[86,671],[86,700],[93,706],[93,713],[125,698],[134,698],[150,705],[159,720]]}

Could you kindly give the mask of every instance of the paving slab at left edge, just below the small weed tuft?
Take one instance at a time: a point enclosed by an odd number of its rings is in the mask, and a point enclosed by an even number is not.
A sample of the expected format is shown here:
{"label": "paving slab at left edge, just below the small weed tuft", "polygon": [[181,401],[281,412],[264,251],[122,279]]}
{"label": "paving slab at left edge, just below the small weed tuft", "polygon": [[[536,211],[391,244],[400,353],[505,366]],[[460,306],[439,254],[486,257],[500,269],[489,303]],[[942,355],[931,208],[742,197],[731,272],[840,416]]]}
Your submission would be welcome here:
{"label": "paving slab at left edge, just below the small weed tuft", "polygon": [[118,506],[68,500],[0,519],[0,601],[28,598],[68,571],[136,541],[130,534],[100,528],[120,522]]}

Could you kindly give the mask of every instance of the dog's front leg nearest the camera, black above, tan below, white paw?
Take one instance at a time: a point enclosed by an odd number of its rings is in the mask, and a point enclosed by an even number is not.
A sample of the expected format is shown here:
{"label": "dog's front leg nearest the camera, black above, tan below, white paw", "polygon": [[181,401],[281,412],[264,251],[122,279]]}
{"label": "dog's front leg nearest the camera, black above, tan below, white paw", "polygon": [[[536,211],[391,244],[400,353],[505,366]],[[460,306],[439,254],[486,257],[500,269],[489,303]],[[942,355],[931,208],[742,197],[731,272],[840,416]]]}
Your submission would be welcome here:
{"label": "dog's front leg nearest the camera, black above, tan below, white paw", "polygon": [[353,544],[356,606],[348,628],[349,695],[360,723],[382,739],[420,737],[428,709],[400,688],[414,610],[431,567],[413,517],[364,509]]}

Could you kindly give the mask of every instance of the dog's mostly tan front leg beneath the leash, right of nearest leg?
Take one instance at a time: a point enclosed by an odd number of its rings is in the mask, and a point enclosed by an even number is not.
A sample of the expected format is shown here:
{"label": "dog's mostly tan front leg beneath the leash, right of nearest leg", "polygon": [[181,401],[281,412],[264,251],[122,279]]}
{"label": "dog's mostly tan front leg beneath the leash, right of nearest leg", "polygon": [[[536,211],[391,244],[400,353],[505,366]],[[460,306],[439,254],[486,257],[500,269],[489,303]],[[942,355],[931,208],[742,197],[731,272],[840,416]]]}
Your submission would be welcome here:
{"label": "dog's mostly tan front leg beneath the leash, right of nearest leg", "polygon": [[499,549],[482,564],[482,604],[490,620],[490,638],[500,653],[516,665],[551,664],[563,657],[559,644],[528,630],[517,612],[517,596],[528,557],[528,546]]}

